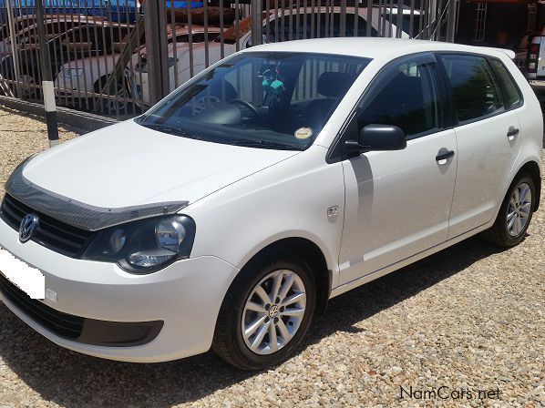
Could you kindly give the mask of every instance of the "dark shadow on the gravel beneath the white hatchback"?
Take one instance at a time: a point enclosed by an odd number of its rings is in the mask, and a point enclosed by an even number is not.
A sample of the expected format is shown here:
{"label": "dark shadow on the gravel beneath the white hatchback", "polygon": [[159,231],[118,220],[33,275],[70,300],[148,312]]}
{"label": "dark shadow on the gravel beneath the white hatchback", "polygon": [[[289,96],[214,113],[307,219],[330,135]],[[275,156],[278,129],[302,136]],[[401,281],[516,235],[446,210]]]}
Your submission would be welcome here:
{"label": "dark shadow on the gravel beneath the white hatchback", "polygon": [[[498,251],[476,238],[466,240],[347,292],[315,319],[302,349],[335,331],[360,331],[356,323]],[[232,368],[211,352],[158,364],[109,362],[69,352],[32,331],[1,302],[0,357],[5,368],[43,399],[73,408],[170,407],[199,400],[254,375]],[[5,368],[0,361],[0,377]]]}

